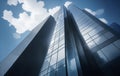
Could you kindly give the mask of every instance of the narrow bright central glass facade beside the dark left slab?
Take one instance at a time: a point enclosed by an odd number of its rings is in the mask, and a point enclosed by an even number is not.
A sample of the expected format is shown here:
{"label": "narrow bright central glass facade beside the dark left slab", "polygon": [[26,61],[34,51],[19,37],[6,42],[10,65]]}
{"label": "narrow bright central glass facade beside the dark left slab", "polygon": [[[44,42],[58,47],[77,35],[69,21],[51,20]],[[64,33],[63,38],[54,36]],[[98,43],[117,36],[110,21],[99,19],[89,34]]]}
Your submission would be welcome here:
{"label": "narrow bright central glass facade beside the dark left slab", "polygon": [[39,76],[66,76],[63,10],[55,15],[56,26]]}

